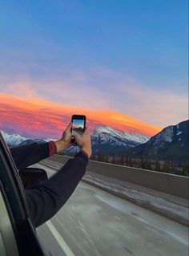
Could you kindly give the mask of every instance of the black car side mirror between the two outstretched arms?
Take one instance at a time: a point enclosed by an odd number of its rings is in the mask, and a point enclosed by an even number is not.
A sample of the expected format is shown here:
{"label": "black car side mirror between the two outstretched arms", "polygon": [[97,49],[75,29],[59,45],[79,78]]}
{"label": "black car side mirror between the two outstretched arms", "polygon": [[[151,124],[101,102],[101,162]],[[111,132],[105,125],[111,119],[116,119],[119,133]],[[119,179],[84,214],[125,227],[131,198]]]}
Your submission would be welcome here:
{"label": "black car side mirror between the two outstretched arms", "polygon": [[48,179],[46,171],[38,168],[20,169],[19,176],[25,189]]}

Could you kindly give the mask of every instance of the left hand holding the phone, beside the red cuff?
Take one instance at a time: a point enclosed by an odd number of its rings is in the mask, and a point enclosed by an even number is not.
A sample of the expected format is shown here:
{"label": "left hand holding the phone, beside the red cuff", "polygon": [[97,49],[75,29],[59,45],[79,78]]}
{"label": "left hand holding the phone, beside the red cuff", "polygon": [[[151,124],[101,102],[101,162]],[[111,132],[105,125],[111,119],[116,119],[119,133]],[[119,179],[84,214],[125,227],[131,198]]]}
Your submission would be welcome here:
{"label": "left hand holding the phone, beside the red cuff", "polygon": [[70,122],[70,124],[68,124],[68,126],[66,127],[66,130],[62,134],[62,138],[60,140],[54,141],[57,147],[57,152],[60,152],[71,146],[70,144],[71,128],[72,128],[72,123]]}

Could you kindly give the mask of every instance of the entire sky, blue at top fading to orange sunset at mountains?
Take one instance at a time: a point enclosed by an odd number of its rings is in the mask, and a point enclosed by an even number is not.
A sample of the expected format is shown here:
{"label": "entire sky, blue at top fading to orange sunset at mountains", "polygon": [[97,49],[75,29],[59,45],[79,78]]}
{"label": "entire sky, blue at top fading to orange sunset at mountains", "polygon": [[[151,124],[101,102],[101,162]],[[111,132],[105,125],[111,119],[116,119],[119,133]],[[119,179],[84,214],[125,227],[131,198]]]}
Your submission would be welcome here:
{"label": "entire sky, blue at top fading to orange sunset at mountains", "polygon": [[[59,131],[53,126],[59,118],[54,104],[62,118],[68,110],[70,115],[101,113],[89,118],[97,122],[91,128],[132,126],[148,135],[187,120],[187,4],[0,0],[0,106],[4,114],[5,104],[12,109],[6,117],[1,112],[1,129],[43,136],[42,130],[24,131],[19,123],[32,104],[52,108],[46,136]],[[14,108],[10,99],[17,103]],[[114,113],[112,120],[107,112]],[[35,114],[44,128],[45,113]],[[136,120],[146,128],[136,128]]]}

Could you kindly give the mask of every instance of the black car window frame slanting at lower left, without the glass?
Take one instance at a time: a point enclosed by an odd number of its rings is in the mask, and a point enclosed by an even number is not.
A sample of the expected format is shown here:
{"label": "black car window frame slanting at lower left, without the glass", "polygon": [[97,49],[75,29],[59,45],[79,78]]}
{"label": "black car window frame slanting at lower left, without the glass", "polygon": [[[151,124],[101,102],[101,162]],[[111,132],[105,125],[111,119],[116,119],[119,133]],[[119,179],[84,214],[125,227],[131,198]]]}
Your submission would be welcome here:
{"label": "black car window frame slanting at lower left, without the glass", "polygon": [[26,201],[18,170],[1,132],[0,158],[0,161],[4,165],[4,169],[0,173],[1,192],[10,217],[19,255],[46,255],[46,252],[38,241],[38,236],[32,223],[30,209]]}

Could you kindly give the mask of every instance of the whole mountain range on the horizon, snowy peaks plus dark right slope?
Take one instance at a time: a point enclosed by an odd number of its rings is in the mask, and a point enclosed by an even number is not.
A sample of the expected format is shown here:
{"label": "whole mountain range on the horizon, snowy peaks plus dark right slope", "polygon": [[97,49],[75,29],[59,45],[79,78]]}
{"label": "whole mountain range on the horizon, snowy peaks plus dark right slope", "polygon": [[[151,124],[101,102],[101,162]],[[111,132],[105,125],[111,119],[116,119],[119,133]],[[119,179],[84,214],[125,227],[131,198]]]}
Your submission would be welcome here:
{"label": "whole mountain range on the horizon, snowy peaks plus dark right slope", "polygon": [[[18,134],[9,135],[2,132],[9,146],[18,144],[42,143],[54,139],[30,139]],[[94,128],[91,136],[93,153],[107,155],[127,155],[131,158],[147,158],[151,160],[179,160],[188,159],[189,120],[179,124],[169,125],[155,136],[143,136],[139,133],[119,132],[109,126]],[[65,153],[75,153],[78,147],[70,147]]]}

